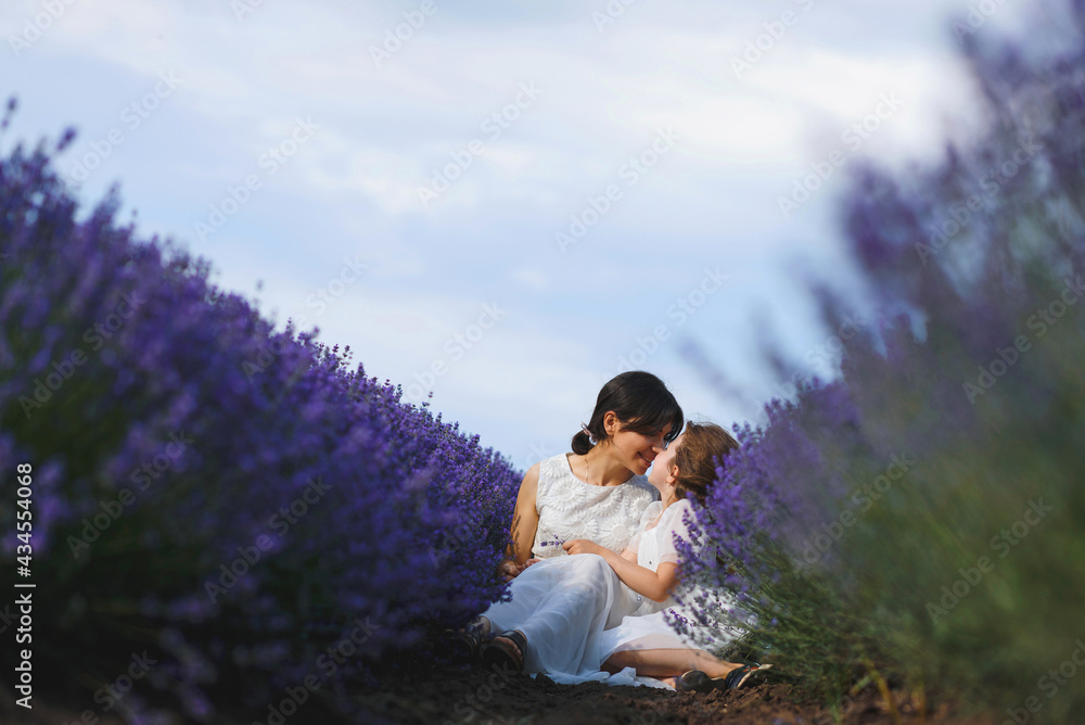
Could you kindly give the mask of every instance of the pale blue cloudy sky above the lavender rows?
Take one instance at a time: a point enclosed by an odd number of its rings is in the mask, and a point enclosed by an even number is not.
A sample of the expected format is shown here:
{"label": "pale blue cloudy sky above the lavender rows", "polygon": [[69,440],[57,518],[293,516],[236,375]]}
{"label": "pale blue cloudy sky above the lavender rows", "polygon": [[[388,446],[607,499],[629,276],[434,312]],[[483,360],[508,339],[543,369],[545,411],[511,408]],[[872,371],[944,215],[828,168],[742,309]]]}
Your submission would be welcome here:
{"label": "pale blue cloudy sky above the lavender rows", "polygon": [[0,148],[75,127],[58,164],[87,209],[119,185],[144,236],[526,468],[624,370],[726,425],[831,376],[812,281],[877,317],[840,232],[850,169],[974,136],[965,28],[1039,12],[7,0]]}

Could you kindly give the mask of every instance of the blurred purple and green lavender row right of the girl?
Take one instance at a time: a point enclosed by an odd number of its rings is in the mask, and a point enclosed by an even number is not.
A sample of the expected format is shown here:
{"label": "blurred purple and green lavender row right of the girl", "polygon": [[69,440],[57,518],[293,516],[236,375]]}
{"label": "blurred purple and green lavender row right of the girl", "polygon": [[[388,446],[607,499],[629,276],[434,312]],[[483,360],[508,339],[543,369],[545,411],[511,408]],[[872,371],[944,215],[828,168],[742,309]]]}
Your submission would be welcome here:
{"label": "blurred purple and green lavender row right of the girl", "polygon": [[987,131],[934,168],[856,175],[845,228],[888,321],[839,380],[738,431],[701,522],[729,564],[694,577],[740,601],[704,619],[830,699],[867,678],[1010,722],[1085,709],[1085,3],[1071,15],[1057,54],[966,36]]}

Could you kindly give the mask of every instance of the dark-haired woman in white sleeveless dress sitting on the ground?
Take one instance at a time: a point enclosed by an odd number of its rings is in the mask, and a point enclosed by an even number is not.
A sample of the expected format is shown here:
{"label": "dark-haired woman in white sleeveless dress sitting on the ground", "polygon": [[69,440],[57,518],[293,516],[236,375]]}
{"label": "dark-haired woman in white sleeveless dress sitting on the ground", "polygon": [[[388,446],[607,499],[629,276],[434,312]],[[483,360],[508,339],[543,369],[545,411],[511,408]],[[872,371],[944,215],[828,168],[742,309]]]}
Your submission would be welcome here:
{"label": "dark-haired woman in white sleeveless dress sitting on the ground", "polygon": [[[573,453],[540,461],[524,476],[507,558],[498,567],[512,580],[512,598],[492,605],[458,633],[468,652],[477,652],[493,633],[509,632],[536,644],[524,646],[529,670],[569,666],[583,657],[589,631],[613,626],[633,611],[635,602],[599,557],[579,557],[564,569],[549,564],[571,562],[562,544],[573,538],[609,551],[626,547],[659,497],[644,473],[681,423],[678,402],[651,373],[624,372],[603,385],[590,421],[573,437]],[[529,560],[538,563],[528,570]],[[591,601],[591,611],[571,625],[569,610],[578,601]],[[561,632],[571,636],[557,637]],[[519,656],[518,669],[524,665]]]}

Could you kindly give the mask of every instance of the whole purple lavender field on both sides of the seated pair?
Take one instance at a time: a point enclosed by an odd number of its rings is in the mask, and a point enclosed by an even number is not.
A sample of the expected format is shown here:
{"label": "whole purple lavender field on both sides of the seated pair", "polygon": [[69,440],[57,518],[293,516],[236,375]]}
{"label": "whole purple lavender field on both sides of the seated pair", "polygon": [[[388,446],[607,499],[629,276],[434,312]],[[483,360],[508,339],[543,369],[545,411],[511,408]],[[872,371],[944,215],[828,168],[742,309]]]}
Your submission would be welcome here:
{"label": "whole purple lavender field on both sides of the seated pair", "polygon": [[[966,38],[970,143],[853,169],[839,232],[878,321],[817,288],[840,374],[735,425],[700,522],[720,557],[690,580],[736,595],[701,616],[781,673],[799,709],[777,722],[1085,716],[1073,8],[1057,51]],[[125,221],[119,193],[89,204],[58,169],[75,138],[0,131],[0,564],[35,584],[12,589],[33,593],[33,669],[9,647],[18,600],[0,603],[4,722],[425,722],[380,694],[444,677],[436,635],[502,596],[520,461],[406,399],[406,371],[277,331],[208,260]],[[669,707],[641,722],[702,722]],[[441,718],[518,722],[495,712]]]}

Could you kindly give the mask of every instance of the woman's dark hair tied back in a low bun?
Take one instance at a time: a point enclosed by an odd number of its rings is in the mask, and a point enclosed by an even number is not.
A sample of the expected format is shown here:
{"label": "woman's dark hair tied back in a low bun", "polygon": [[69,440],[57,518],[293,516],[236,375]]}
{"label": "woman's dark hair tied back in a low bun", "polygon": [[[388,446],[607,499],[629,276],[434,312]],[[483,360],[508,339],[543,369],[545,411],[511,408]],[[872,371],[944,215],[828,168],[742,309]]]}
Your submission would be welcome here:
{"label": "woman's dark hair tied back in a low bun", "polygon": [[[596,409],[588,421],[588,431],[596,442],[607,440],[603,417],[613,410],[622,421],[622,430],[654,435],[671,423],[665,437],[671,443],[681,433],[685,420],[678,400],[663,381],[650,372],[631,370],[612,378],[596,398]],[[573,436],[573,453],[583,456],[595,444],[583,430]]]}

